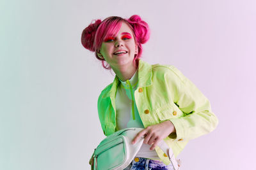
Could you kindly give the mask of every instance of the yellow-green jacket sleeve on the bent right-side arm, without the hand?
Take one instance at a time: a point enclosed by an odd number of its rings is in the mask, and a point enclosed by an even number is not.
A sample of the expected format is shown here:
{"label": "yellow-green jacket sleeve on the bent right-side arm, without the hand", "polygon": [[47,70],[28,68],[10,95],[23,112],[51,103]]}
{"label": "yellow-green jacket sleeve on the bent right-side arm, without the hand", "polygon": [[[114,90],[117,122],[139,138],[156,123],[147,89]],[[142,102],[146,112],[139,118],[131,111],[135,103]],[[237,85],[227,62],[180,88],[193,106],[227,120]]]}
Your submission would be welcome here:
{"label": "yellow-green jacket sleeve on the bent right-side arm, without the hand", "polygon": [[172,71],[170,77],[166,76],[166,81],[172,81],[170,83],[176,86],[173,101],[184,113],[182,117],[170,118],[176,129],[176,135],[171,134],[170,138],[188,141],[213,131],[218,125],[218,118],[212,113],[209,100],[176,67],[171,66],[170,69]]}

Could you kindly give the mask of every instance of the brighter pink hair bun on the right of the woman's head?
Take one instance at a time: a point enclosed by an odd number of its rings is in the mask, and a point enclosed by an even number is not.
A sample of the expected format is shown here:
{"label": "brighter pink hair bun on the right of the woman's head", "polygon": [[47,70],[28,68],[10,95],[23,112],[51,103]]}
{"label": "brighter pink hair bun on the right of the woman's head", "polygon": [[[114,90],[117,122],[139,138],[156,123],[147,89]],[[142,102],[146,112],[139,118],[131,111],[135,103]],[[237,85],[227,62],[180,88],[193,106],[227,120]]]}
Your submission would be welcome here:
{"label": "brighter pink hair bun on the right of the woman's head", "polygon": [[137,41],[141,44],[146,43],[150,36],[150,30],[147,22],[141,20],[139,15],[132,15],[127,21],[134,29]]}

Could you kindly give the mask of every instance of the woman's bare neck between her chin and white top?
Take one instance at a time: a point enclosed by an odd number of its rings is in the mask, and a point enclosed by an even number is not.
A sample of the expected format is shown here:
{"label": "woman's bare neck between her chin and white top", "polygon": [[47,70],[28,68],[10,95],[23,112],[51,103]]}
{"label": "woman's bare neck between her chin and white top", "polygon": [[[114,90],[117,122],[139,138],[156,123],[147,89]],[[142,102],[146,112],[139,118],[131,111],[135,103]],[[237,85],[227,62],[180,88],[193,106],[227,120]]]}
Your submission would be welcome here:
{"label": "woman's bare neck between her chin and white top", "polygon": [[120,80],[126,81],[132,78],[132,76],[136,72],[137,67],[138,67],[138,60],[136,60],[135,63],[134,64],[132,63],[130,66],[122,66],[118,68],[112,67],[112,69]]}

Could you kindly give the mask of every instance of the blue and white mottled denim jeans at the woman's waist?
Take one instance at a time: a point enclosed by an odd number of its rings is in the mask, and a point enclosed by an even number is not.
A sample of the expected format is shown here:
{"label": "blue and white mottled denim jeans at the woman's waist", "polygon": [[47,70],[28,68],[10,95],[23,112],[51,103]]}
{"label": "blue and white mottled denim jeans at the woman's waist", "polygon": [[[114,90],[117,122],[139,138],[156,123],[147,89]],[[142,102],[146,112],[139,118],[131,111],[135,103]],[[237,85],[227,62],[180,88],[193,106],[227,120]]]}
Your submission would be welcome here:
{"label": "blue and white mottled denim jeans at the woman's waist", "polygon": [[157,170],[157,169],[166,169],[173,170],[172,163],[168,166],[164,164],[161,160],[152,160],[146,158],[138,158],[132,160],[131,164],[126,167],[124,170]]}

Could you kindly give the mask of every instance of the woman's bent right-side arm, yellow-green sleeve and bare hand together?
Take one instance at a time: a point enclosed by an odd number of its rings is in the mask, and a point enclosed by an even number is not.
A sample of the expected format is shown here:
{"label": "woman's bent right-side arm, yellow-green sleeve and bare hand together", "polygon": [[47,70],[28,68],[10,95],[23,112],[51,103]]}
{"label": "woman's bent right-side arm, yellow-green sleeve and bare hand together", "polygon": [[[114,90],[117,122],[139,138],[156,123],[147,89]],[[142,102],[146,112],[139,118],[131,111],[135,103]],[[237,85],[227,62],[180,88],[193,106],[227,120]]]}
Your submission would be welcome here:
{"label": "woman's bent right-side arm, yellow-green sleeve and bare hand together", "polygon": [[168,90],[175,94],[173,102],[184,113],[182,117],[170,118],[157,125],[152,125],[141,131],[133,142],[145,136],[144,143],[152,145],[152,149],[169,136],[174,140],[189,140],[211,132],[218,124],[218,119],[211,112],[207,98],[173,66],[166,67],[165,81]]}

